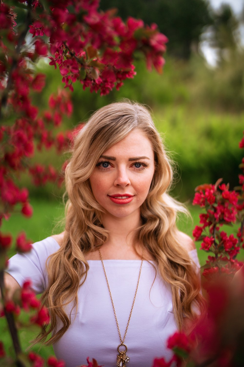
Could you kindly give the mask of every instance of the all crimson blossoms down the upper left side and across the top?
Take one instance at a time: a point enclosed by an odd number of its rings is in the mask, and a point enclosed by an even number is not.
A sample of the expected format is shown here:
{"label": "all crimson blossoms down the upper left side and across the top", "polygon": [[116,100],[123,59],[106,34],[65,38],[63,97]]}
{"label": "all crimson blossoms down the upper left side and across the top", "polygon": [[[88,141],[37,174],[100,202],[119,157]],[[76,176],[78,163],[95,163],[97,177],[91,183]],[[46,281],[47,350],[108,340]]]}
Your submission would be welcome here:
{"label": "all crimson blossoms down the upper left side and across the top", "polygon": [[[25,1],[19,0],[19,3],[25,7]],[[18,7],[18,1],[15,6]],[[114,10],[102,12],[98,7],[97,0],[54,0],[47,8],[38,0],[30,1],[29,19],[33,22],[27,26],[33,44],[28,48],[25,35],[20,33],[21,27],[16,27],[15,7],[3,1],[0,3],[0,28],[4,34],[0,38],[3,54],[0,59],[0,114],[4,114],[6,120],[12,116],[15,121],[0,127],[0,200],[3,204],[0,225],[17,204],[21,205],[23,215],[32,215],[28,191],[20,189],[14,179],[17,172],[29,172],[35,185],[47,181],[60,185],[63,181],[63,172],[51,165],[31,164],[35,147],[41,150],[55,146],[60,153],[69,148],[82,128],[81,124],[74,131],[59,132],[55,136],[53,128],[59,127],[63,117],[72,113],[70,95],[65,90],[51,95],[49,109],[40,114],[32,103],[30,92],[42,91],[45,75],[35,75],[29,68],[31,62],[49,57],[50,65],[59,66],[65,87],[72,91],[72,84],[78,80],[84,89],[100,90],[101,95],[114,86],[119,89],[124,79],[135,75],[134,51],[145,56],[149,69],[154,66],[162,72],[167,38],[158,32],[157,26],[144,26],[143,21],[131,17],[124,23],[115,16]],[[1,239],[3,247],[7,247],[10,237],[1,235]],[[18,244],[27,248],[23,246],[23,239]]]}

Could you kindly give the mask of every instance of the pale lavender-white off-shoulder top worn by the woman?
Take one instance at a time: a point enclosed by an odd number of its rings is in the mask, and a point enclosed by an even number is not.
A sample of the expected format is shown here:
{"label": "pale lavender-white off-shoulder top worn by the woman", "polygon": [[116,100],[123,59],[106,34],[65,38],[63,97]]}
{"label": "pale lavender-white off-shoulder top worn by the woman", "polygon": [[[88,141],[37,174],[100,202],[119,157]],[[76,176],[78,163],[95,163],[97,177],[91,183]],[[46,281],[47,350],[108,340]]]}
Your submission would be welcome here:
{"label": "pale lavender-white off-shoulder top worn by the woman", "polygon": [[[6,270],[20,286],[30,279],[39,294],[48,284],[46,259],[59,249],[53,237],[33,244],[27,253],[14,255]],[[189,251],[199,266],[196,250]],[[98,364],[115,367],[117,346],[120,344],[108,286],[100,260],[89,260],[90,269],[85,283],[78,291],[78,312],[71,313],[71,325],[53,345],[55,355],[67,367],[87,364],[95,358]],[[140,260],[104,260],[117,320],[123,338],[138,281]],[[172,356],[167,339],[176,330],[172,293],[168,284],[156,275],[152,261],[143,261],[131,320],[124,343],[129,356],[128,367],[151,367],[155,357]],[[71,310],[67,307],[67,313]],[[58,322],[59,325],[59,322]],[[58,326],[58,327],[61,327]]]}

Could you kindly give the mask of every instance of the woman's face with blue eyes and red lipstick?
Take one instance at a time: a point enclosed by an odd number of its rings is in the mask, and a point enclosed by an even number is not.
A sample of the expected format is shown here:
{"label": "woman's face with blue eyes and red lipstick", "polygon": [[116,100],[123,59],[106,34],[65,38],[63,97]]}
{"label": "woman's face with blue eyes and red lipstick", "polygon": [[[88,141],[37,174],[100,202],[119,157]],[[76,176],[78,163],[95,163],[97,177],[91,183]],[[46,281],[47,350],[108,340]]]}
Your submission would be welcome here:
{"label": "woman's face with blue eyes and red lipstick", "polygon": [[138,217],[154,174],[150,140],[139,129],[102,153],[90,177],[93,195],[106,214]]}

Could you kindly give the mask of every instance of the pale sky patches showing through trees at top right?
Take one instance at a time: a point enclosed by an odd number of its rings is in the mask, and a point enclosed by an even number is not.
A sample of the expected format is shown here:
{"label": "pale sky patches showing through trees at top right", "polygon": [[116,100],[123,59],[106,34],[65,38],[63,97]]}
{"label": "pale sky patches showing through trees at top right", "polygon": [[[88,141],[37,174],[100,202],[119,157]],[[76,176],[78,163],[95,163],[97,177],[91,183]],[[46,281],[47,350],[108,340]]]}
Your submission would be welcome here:
{"label": "pale sky patches showing through trees at top right", "polygon": [[[214,9],[218,9],[222,3],[230,4],[237,17],[244,8],[244,0],[209,0],[209,2]],[[240,33],[242,43],[244,44],[244,26],[241,27]],[[209,65],[215,66],[217,62],[217,53],[213,50],[213,48],[209,47],[208,43],[204,41],[200,44],[200,49]]]}

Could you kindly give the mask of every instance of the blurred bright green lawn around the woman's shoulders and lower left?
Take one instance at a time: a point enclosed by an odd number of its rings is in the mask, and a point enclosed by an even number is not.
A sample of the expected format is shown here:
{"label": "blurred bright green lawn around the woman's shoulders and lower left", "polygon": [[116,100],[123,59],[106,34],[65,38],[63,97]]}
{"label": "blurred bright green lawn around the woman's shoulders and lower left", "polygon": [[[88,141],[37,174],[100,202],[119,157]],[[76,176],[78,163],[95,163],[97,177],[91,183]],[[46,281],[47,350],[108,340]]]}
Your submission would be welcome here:
{"label": "blurred bright green lawn around the woman's shoulders and lower left", "polygon": [[[31,204],[34,209],[33,216],[29,219],[26,219],[21,214],[12,214],[11,218],[8,221],[3,221],[3,226],[1,227],[1,231],[3,233],[11,233],[13,238],[20,231],[25,231],[27,238],[31,239],[33,242],[39,241],[48,237],[54,233],[59,233],[62,230],[62,226],[58,223],[63,218],[64,215],[64,206],[60,200],[46,200],[43,199],[31,199]],[[200,208],[196,206],[192,206],[190,202],[186,203],[188,207],[192,219],[186,217],[180,217],[178,220],[178,227],[183,232],[187,233],[189,236],[192,235],[192,230],[196,225],[199,224],[199,213]],[[56,228],[55,228],[56,227]],[[228,228],[228,233],[233,232],[237,229]],[[199,250],[200,243],[196,243],[196,248],[198,250],[198,256],[200,264],[203,265],[207,259],[208,254],[202,250]],[[10,256],[15,253],[14,246],[10,251]],[[244,251],[241,251],[240,259],[244,259]],[[24,317],[24,320],[26,317]],[[6,320],[4,317],[0,318],[0,330],[1,330],[1,340],[4,342],[5,350],[8,351],[9,355],[14,356],[13,347],[11,344],[10,334],[7,328]],[[29,342],[34,339],[34,337],[38,333],[38,328],[23,328],[19,332],[19,338],[22,345],[23,350],[25,350],[29,346]],[[41,346],[40,344],[35,345],[32,350],[34,352],[40,353],[40,355],[44,358],[47,358],[49,355],[54,354],[52,346],[46,347]]]}

